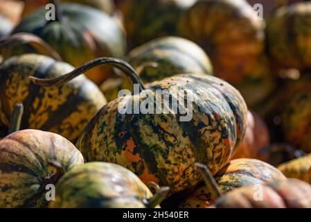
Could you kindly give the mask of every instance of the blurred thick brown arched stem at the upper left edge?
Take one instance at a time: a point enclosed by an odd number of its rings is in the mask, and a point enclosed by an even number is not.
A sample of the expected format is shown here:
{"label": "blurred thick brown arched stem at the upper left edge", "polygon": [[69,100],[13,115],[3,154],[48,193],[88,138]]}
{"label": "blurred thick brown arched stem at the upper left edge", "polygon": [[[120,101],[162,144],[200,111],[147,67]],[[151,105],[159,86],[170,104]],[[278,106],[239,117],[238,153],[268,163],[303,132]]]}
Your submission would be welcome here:
{"label": "blurred thick brown arched stem at the upper left edge", "polygon": [[42,40],[37,35],[30,33],[16,33],[2,38],[0,40],[0,52],[3,58],[6,59],[12,56],[10,53],[11,51],[15,51],[15,47],[19,47],[25,44],[32,46],[40,54],[50,56],[55,60],[62,61],[60,55],[50,45],[44,42],[44,40]]}

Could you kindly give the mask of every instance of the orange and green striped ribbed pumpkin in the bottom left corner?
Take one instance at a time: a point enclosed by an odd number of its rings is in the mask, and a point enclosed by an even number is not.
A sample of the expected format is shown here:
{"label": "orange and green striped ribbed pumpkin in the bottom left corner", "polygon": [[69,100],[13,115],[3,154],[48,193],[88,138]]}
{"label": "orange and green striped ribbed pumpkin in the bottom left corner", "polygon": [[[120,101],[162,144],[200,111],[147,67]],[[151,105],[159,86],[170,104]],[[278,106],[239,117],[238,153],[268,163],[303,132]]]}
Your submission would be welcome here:
{"label": "orange and green striped ribbed pumpkin in the bottom left corner", "polygon": [[81,153],[64,137],[21,130],[0,140],[0,207],[46,207],[46,177],[57,161],[64,171],[83,164]]}

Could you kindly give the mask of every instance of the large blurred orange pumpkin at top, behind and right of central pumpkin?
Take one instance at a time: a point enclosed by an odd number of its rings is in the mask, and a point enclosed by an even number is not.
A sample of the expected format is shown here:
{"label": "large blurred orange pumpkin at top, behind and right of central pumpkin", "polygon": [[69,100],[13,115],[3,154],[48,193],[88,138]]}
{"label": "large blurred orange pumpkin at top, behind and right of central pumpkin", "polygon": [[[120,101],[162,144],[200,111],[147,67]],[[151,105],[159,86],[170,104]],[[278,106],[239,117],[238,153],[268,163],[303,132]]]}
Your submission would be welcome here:
{"label": "large blurred orange pumpkin at top, behind and right of central pumpkin", "polygon": [[197,1],[178,26],[181,37],[196,42],[211,57],[215,75],[231,84],[263,66],[258,60],[264,51],[264,24],[245,0]]}

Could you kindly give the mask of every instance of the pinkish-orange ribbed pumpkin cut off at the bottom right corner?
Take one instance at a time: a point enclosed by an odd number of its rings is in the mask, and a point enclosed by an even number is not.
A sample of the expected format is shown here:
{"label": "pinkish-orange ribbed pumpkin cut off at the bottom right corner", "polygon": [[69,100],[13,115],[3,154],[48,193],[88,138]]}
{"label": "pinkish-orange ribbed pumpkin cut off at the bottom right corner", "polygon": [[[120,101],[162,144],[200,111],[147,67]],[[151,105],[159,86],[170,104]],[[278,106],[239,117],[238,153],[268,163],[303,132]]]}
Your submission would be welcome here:
{"label": "pinkish-orange ribbed pumpkin cut off at the bottom right corner", "polygon": [[311,186],[297,179],[263,186],[263,201],[255,200],[254,187],[241,187],[218,198],[213,208],[310,208]]}

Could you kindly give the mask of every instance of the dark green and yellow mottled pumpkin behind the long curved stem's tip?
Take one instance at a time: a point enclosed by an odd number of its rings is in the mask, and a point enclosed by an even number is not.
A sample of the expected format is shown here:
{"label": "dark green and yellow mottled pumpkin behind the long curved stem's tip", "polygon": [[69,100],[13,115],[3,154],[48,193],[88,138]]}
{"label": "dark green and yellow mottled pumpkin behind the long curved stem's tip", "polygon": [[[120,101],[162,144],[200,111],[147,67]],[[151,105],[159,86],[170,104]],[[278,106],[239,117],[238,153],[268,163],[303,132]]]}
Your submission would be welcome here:
{"label": "dark green and yellow mottled pumpkin behind the long curved stem's tip", "polygon": [[21,128],[57,133],[73,141],[100,108],[106,104],[98,87],[85,76],[62,87],[39,87],[29,76],[62,76],[73,67],[37,54],[14,56],[0,66],[0,124],[8,127],[16,103],[24,104]]}

